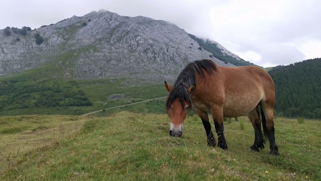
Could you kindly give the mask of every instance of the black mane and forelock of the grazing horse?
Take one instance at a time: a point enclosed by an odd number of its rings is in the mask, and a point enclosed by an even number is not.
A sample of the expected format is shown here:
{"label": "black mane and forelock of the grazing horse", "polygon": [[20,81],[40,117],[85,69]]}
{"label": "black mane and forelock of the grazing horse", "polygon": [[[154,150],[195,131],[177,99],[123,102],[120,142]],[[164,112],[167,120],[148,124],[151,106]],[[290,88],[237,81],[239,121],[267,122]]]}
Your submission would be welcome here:
{"label": "black mane and forelock of the grazing horse", "polygon": [[[173,102],[179,98],[181,100],[182,107],[184,107],[184,101],[189,104],[189,108],[192,108],[192,97],[188,93],[188,88],[196,84],[196,74],[201,73],[205,77],[204,71],[213,73],[217,71],[216,64],[211,60],[196,60],[189,63],[179,74],[176,79],[173,90],[169,94],[166,101],[166,110],[170,108]],[[196,85],[197,88],[197,85]]]}

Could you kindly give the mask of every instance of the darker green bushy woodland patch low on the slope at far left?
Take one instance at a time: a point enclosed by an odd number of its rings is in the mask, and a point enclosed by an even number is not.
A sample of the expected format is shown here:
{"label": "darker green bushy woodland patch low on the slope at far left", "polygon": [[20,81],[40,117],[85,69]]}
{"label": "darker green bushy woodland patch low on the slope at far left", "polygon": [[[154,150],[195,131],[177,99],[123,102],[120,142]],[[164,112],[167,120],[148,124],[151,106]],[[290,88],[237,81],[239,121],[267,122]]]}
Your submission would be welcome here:
{"label": "darker green bushy woodland patch low on the slope at far left", "polygon": [[92,106],[92,102],[73,85],[26,79],[0,82],[0,110],[56,106]]}

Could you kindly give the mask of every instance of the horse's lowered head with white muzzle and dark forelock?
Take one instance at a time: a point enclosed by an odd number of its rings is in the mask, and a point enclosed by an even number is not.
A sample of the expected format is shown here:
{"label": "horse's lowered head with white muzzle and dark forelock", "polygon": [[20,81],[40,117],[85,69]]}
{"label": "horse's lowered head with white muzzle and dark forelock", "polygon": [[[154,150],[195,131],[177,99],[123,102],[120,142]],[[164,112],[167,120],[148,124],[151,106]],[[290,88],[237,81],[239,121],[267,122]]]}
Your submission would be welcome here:
{"label": "horse's lowered head with white muzzle and dark forelock", "polygon": [[165,87],[169,92],[166,101],[166,111],[171,121],[170,135],[181,137],[187,111],[192,108],[191,94],[195,90],[196,85],[194,84],[191,87],[180,85],[173,88],[165,81]]}

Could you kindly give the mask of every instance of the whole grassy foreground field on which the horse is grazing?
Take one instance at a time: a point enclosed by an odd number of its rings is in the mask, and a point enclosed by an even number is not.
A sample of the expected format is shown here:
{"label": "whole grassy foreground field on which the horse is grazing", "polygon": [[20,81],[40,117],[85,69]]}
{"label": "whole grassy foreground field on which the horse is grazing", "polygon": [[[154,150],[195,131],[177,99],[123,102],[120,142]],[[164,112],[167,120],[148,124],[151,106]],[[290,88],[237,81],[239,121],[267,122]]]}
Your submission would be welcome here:
{"label": "whole grassy foreground field on which the horse is grazing", "polygon": [[[229,150],[206,145],[201,120],[187,118],[182,138],[167,115],[0,118],[2,180],[318,180],[321,122],[276,118],[279,157],[248,152],[246,118],[225,122]],[[30,138],[30,135],[35,137]],[[11,146],[9,146],[11,145]]]}

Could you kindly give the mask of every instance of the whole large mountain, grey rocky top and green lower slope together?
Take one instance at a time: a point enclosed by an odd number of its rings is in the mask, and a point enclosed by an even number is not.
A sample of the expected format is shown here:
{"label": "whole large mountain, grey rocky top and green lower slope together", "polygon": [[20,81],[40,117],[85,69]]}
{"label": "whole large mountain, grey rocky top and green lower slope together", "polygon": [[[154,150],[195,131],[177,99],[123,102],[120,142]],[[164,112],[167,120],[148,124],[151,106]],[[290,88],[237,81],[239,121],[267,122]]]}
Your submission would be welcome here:
{"label": "whole large mountain, grey rocky top and green lower slope together", "polygon": [[[105,10],[35,30],[7,27],[0,30],[0,115],[81,115],[164,97],[164,80],[174,81],[191,61],[235,66],[215,58],[215,47],[242,61],[218,43],[200,49],[190,36],[166,21]],[[118,94],[126,97],[109,99]],[[149,106],[139,109],[164,109]]]}

